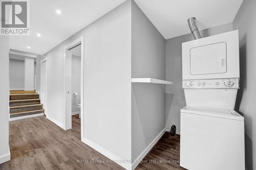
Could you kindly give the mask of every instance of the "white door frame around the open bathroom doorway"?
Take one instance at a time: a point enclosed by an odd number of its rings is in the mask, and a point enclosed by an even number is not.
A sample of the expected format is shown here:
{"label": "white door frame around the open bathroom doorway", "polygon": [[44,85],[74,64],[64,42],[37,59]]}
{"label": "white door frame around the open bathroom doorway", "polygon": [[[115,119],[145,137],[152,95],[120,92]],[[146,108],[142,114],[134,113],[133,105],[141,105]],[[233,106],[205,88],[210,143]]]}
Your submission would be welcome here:
{"label": "white door frame around the open bathroom doorway", "polygon": [[[64,89],[64,100],[63,100],[63,109],[64,109],[64,113],[65,113],[65,130],[69,130],[72,129],[72,114],[67,113],[66,112],[66,94],[68,93],[67,89],[68,87],[66,87],[66,75],[68,75],[67,71],[66,71],[66,51],[76,45],[78,45],[79,43],[81,43],[81,78],[80,78],[80,92],[81,92],[81,113],[80,113],[80,117],[81,117],[81,139],[83,139],[83,122],[84,122],[84,105],[83,105],[83,101],[84,101],[84,83],[83,83],[83,75],[84,75],[84,56],[83,56],[83,49],[84,49],[84,36],[81,36],[79,38],[77,38],[76,40],[74,40],[73,42],[69,43],[68,45],[65,45],[64,47],[64,83],[63,83],[63,89]],[[72,105],[71,100],[70,100],[70,105]],[[68,123],[67,123],[68,122]]]}

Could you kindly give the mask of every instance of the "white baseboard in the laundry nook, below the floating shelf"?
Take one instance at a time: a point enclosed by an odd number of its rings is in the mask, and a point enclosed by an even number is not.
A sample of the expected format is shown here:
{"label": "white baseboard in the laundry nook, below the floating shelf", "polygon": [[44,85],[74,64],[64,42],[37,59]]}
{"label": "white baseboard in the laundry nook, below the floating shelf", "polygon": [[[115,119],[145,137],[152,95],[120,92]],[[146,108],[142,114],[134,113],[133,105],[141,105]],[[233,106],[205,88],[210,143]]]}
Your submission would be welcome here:
{"label": "white baseboard in the laundry nook, below the floating shelf", "polygon": [[146,149],[135,159],[135,161],[132,163],[132,170],[138,166],[140,161],[146,156],[148,152],[154,147],[154,145],[158,142],[158,140],[163,136],[165,133],[166,129],[164,128],[158,135],[157,137],[146,147]]}

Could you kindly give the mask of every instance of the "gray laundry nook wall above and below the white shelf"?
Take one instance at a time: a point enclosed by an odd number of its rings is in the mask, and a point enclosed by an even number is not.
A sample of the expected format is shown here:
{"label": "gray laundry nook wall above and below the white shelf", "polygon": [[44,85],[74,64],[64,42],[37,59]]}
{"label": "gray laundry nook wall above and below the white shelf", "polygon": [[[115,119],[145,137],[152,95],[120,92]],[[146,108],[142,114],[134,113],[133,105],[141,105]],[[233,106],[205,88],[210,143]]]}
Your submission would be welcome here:
{"label": "gray laundry nook wall above and below the white shelf", "polygon": [[[132,78],[165,80],[165,40],[132,3]],[[132,84],[132,159],[165,129],[164,85]]]}

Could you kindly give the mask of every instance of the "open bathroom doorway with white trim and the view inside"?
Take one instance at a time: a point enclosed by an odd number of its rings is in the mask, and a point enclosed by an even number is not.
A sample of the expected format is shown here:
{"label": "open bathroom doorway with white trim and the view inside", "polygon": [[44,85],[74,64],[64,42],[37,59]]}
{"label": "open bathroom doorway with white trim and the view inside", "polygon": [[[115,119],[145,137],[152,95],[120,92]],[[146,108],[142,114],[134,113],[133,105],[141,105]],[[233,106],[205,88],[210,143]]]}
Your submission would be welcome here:
{"label": "open bathroom doorway with white trim and the view inside", "polygon": [[[83,139],[83,36],[65,46],[65,67],[64,67],[64,111],[65,128],[72,129],[72,111],[73,114],[80,113],[81,119],[81,139]],[[78,60],[74,55],[80,55],[80,79],[72,75],[72,60]],[[77,73],[77,70],[76,70]],[[75,74],[73,70],[73,74]],[[76,74],[77,76],[77,74]],[[73,78],[73,79],[72,79]],[[77,82],[79,80],[79,82]],[[76,81],[76,82],[73,82]],[[79,85],[77,85],[79,83]],[[72,88],[73,84],[73,88]],[[74,84],[77,86],[74,87]],[[79,90],[77,88],[80,88]],[[80,93],[80,95],[79,95]],[[78,107],[80,107],[78,109]]]}

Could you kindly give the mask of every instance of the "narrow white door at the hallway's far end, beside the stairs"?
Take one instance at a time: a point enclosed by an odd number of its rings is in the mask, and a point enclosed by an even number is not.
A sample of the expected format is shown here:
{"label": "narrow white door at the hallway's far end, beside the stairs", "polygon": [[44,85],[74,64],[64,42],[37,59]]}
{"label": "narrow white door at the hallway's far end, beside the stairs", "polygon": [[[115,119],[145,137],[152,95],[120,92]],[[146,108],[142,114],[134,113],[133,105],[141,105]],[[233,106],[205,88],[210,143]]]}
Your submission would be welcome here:
{"label": "narrow white door at the hallway's far end, beside the stairs", "polygon": [[40,100],[41,104],[44,105],[44,108],[46,107],[46,65],[47,61],[41,62],[41,78],[40,78]]}

